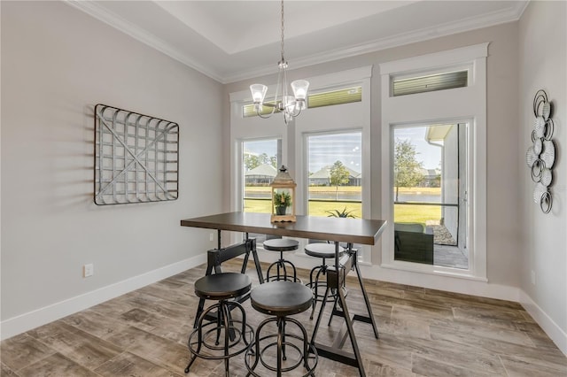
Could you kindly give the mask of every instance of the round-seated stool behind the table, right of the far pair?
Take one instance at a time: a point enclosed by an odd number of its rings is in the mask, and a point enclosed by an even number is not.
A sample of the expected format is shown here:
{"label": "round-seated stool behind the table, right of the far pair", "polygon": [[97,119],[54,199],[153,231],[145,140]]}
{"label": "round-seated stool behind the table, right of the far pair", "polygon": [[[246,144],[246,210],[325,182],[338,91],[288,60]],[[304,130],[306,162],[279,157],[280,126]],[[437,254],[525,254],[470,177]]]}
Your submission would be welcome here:
{"label": "round-seated stool behind the table, right of the far pair", "polygon": [[[338,246],[338,253],[342,254],[344,252],[345,252],[345,248],[343,248],[342,246]],[[313,315],[315,313],[315,306],[317,305],[317,302],[322,302],[322,299],[325,296],[324,292],[327,291],[327,281],[326,280],[320,281],[320,277],[321,275],[324,276],[327,274],[327,268],[329,267],[325,262],[325,259],[335,258],[335,244],[322,243],[322,242],[308,243],[307,246],[305,247],[305,253],[309,257],[322,258],[322,264],[316,265],[315,267],[313,267],[313,269],[311,269],[311,273],[309,273],[309,283],[306,284],[307,287],[313,290],[313,295],[314,295],[313,309],[311,310],[311,315],[309,316],[309,319],[313,319]],[[314,274],[315,274],[315,280],[313,279]],[[322,289],[323,293],[320,292],[320,289]],[[346,292],[346,289],[344,287],[343,290]],[[330,296],[328,298],[332,298],[333,301],[336,303],[337,292],[334,289],[330,289],[329,292],[330,292]],[[332,316],[330,319],[332,319]]]}

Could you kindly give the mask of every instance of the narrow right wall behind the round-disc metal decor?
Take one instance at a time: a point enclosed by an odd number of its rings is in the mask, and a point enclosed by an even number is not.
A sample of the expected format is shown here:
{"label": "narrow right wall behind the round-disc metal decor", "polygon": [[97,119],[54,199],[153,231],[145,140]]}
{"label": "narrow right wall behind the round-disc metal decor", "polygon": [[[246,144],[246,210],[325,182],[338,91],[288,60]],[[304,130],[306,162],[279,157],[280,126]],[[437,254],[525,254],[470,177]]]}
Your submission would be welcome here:
{"label": "narrow right wall behind the round-disc metal decor", "polygon": [[[518,223],[521,260],[518,272],[523,302],[540,325],[567,354],[567,3],[531,2],[519,23],[520,127],[517,154],[521,179]],[[556,158],[553,166],[553,207],[544,214],[533,203],[533,182],[524,163],[532,144],[532,102],[544,89],[553,105]],[[532,284],[532,272],[535,284]]]}

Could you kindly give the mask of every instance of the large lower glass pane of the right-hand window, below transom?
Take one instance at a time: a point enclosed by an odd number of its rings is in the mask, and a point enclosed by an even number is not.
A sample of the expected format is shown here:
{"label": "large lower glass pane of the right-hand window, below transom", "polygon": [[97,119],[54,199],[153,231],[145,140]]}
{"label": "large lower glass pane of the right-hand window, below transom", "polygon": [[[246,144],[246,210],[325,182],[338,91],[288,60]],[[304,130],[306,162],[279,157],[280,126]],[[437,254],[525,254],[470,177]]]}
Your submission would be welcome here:
{"label": "large lower glass pane of the right-hand window, below transom", "polygon": [[469,268],[467,123],[393,127],[394,259]]}

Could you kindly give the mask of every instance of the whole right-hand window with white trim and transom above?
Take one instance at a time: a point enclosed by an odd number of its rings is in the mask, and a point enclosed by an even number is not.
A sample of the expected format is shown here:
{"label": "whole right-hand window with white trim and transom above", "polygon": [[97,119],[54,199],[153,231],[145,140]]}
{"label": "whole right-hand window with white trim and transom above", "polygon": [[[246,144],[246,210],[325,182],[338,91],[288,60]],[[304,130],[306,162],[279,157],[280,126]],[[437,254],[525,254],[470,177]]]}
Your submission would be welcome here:
{"label": "whole right-hand window with white trim and transom above", "polygon": [[380,65],[383,267],[486,280],[487,52]]}

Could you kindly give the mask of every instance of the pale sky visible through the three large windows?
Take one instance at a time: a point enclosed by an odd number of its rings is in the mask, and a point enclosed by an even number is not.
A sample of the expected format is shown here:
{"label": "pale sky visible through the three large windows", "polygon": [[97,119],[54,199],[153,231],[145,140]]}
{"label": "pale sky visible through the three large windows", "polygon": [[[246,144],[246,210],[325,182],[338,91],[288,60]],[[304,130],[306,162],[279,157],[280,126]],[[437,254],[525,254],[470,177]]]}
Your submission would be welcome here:
{"label": "pale sky visible through the three large windows", "polygon": [[[394,138],[409,139],[416,145],[416,158],[423,162],[424,168],[439,168],[441,149],[425,142],[424,136],[425,127],[400,127],[394,131]],[[309,136],[309,172],[315,173],[339,160],[353,171],[361,173],[361,144],[361,132]],[[245,150],[259,155],[266,153],[268,157],[275,156],[277,144],[275,140],[248,141],[245,142]]]}

